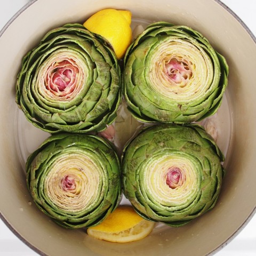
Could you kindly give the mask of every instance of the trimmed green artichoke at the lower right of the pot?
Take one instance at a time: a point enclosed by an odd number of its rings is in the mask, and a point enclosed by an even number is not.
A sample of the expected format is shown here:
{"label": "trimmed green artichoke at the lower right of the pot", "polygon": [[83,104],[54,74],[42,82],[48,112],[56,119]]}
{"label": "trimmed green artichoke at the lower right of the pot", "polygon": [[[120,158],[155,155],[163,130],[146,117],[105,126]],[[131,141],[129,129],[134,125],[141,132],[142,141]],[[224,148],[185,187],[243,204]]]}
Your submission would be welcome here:
{"label": "trimmed green artichoke at the lower right of the pot", "polygon": [[148,127],[124,149],[124,194],[142,217],[184,225],[215,205],[222,161],[223,154],[202,126]]}

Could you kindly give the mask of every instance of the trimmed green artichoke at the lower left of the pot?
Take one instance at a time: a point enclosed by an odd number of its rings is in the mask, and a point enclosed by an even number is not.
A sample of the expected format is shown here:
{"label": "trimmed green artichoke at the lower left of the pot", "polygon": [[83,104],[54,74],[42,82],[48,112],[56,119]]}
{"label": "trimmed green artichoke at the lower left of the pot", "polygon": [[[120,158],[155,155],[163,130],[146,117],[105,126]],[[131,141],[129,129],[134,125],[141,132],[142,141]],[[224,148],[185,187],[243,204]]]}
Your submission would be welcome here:
{"label": "trimmed green artichoke at the lower left of the pot", "polygon": [[97,225],[119,203],[119,159],[97,135],[52,135],[28,157],[26,171],[34,202],[62,227]]}

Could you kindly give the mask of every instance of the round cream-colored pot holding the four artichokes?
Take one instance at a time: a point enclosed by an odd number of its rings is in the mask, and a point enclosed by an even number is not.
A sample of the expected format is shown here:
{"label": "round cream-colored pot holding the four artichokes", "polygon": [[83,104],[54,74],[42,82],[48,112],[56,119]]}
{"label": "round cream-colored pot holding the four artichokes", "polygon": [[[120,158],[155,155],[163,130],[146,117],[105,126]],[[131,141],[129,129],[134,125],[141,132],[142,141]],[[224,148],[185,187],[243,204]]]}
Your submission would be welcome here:
{"label": "round cream-colored pot holding the four artichokes", "polygon": [[[28,194],[25,161],[49,134],[27,124],[15,104],[15,78],[21,58],[50,29],[83,22],[113,7],[131,10],[134,21],[170,21],[206,36],[230,68],[217,128],[226,155],[226,176],[217,205],[180,228],[161,226],[138,242],[115,244],[63,229],[34,205]],[[145,23],[146,24],[146,23]],[[252,217],[256,206],[256,43],[243,23],[219,1],[37,0],[26,6],[0,37],[0,215],[42,255],[206,255],[223,247]]]}

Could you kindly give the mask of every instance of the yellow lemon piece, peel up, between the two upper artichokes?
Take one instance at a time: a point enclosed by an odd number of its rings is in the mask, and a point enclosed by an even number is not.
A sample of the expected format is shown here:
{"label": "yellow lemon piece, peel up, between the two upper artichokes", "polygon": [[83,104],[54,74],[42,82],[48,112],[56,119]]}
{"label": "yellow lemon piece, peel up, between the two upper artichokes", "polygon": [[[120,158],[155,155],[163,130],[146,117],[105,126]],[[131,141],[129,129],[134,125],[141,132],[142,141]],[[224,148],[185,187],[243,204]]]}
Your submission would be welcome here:
{"label": "yellow lemon piece, peel up, between the two upper artichokes", "polygon": [[132,41],[132,13],[126,10],[104,9],[84,22],[84,27],[104,37],[113,47],[117,59],[122,59]]}

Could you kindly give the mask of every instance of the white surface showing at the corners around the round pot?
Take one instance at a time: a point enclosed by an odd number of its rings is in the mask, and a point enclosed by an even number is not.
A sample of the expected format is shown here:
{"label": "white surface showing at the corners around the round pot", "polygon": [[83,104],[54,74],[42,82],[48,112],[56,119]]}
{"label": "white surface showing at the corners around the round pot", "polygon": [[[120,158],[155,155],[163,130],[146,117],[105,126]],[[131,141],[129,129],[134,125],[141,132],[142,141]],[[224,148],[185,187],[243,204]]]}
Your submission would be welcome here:
{"label": "white surface showing at the corners around the round pot", "polygon": [[[202,0],[203,1],[203,0]],[[0,29],[7,21],[25,5],[28,0],[1,0]],[[233,10],[256,35],[256,1],[255,0],[222,0]],[[223,227],[225,228],[225,227]],[[256,215],[249,224],[221,251],[217,256],[255,256],[256,255]],[[2,220],[0,220],[0,256],[36,256],[27,245],[23,244]]]}

